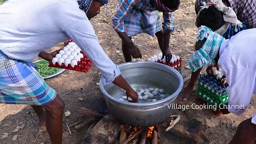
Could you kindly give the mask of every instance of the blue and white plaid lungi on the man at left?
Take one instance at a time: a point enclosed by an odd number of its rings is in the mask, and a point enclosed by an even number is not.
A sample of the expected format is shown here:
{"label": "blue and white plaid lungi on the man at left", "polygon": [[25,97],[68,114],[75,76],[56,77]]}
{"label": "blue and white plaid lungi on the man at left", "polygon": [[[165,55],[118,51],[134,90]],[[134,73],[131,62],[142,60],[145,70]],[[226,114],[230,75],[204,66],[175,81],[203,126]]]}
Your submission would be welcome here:
{"label": "blue and white plaid lungi on the man at left", "polygon": [[29,63],[10,59],[0,51],[0,103],[46,105],[56,94]]}

